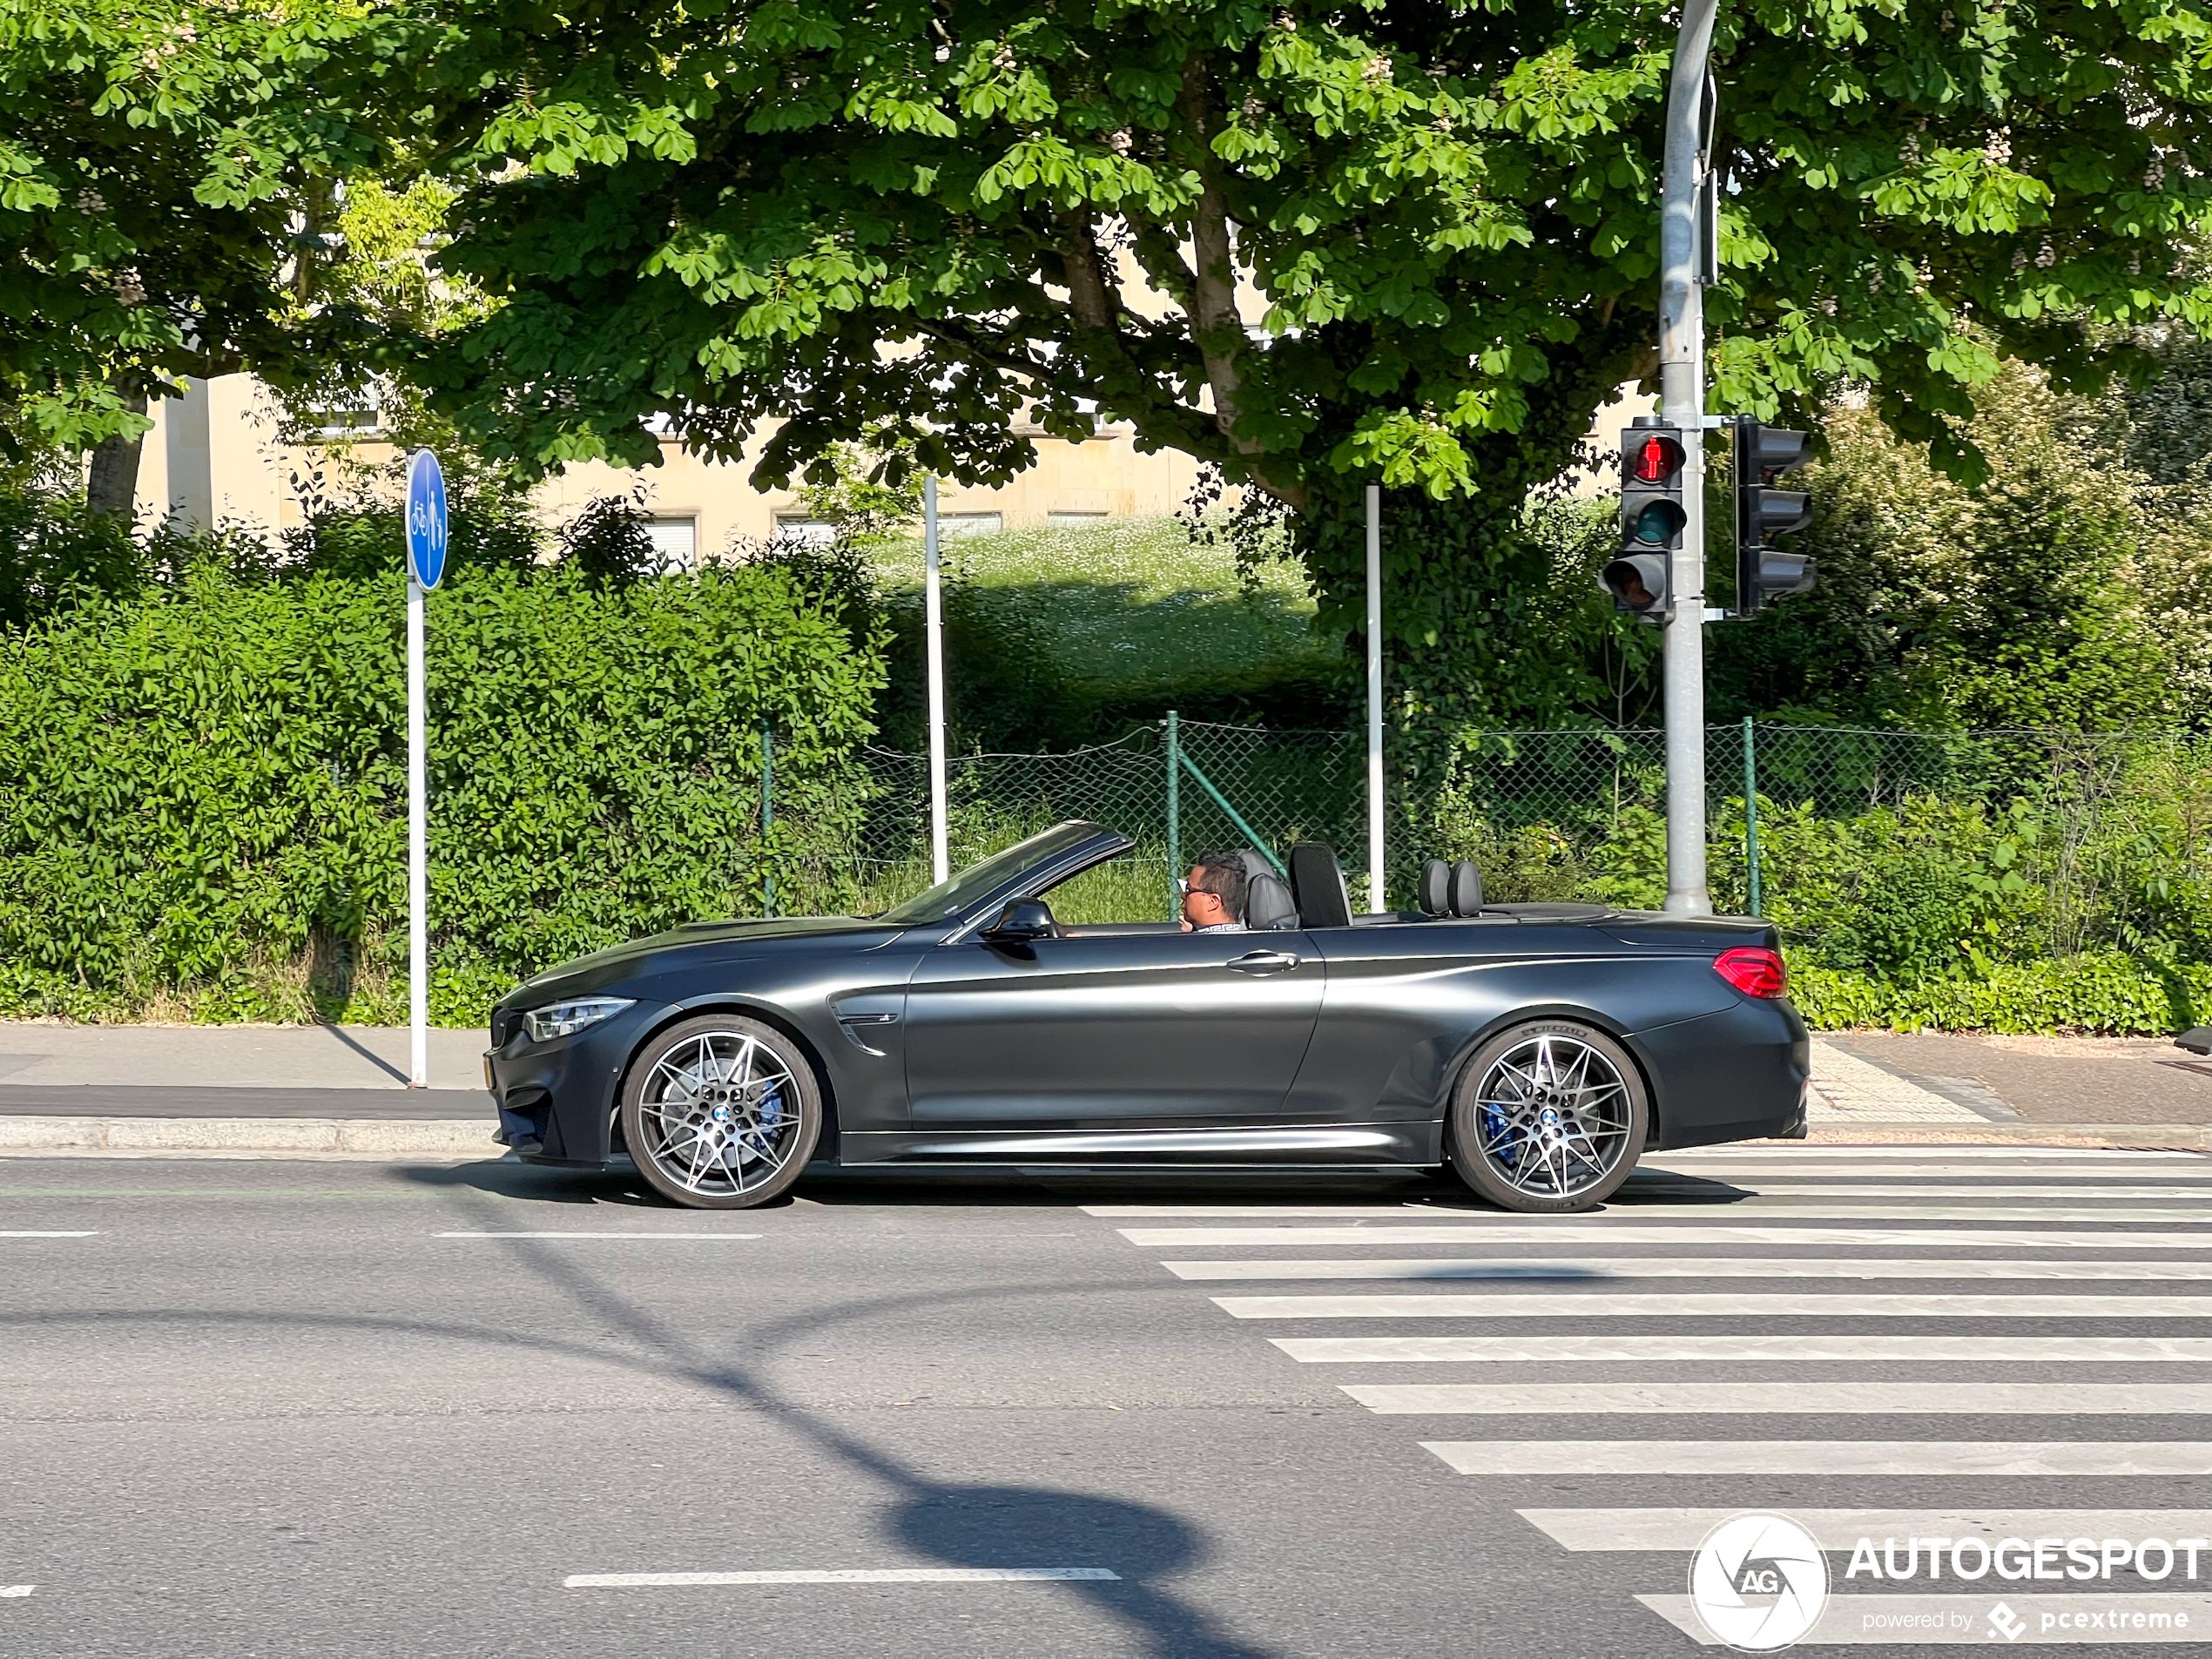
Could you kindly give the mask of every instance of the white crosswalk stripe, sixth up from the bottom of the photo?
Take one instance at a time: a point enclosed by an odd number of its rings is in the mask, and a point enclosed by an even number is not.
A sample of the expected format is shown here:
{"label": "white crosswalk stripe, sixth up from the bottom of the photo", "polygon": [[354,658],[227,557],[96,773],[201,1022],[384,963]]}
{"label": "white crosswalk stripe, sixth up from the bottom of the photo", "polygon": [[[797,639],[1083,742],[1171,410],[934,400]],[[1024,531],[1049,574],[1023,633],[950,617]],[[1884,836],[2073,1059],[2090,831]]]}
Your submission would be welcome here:
{"label": "white crosswalk stripe, sixth up from the bottom of the photo", "polygon": [[2212,1296],[1770,1296],[1725,1290],[1214,1296],[1214,1305],[1234,1318],[2212,1318]]}

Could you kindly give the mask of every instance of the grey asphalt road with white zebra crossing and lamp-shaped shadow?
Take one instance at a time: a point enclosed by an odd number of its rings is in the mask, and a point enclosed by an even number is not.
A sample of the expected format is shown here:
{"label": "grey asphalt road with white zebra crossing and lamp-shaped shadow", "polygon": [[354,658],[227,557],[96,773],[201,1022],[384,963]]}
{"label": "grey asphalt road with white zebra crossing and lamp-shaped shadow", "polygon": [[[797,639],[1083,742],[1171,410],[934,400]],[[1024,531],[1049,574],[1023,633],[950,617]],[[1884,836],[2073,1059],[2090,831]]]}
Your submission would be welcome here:
{"label": "grey asphalt road with white zebra crossing and lamp-shaped shadow", "polygon": [[[1644,1659],[1701,1650],[1637,1597],[1750,1509],[1829,1546],[1818,1639],[1916,1593],[1978,1646],[2000,1597],[2028,1639],[2086,1597],[2212,1639],[2212,1546],[1847,1577],[1865,1526],[2212,1535],[2212,1159],[1657,1164],[1531,1223],[1391,1177],[697,1214],[493,1164],[0,1161],[0,1655]],[[854,1571],[971,1577],[571,1584]]]}

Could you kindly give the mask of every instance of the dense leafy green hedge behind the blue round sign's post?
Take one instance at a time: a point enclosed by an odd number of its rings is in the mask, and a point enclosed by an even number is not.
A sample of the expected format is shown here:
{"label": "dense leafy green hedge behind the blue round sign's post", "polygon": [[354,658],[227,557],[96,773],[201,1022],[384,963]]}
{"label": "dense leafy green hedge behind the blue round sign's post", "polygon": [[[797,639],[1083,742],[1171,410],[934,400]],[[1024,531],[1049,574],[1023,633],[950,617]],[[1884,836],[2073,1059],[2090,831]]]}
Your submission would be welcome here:
{"label": "dense leafy green hedge behind the blue round sign's post", "polygon": [[[400,1015],[403,608],[396,575],[199,564],[0,635],[0,1015]],[[434,1018],[757,914],[770,876],[834,887],[880,684],[825,564],[458,571],[429,599]]]}

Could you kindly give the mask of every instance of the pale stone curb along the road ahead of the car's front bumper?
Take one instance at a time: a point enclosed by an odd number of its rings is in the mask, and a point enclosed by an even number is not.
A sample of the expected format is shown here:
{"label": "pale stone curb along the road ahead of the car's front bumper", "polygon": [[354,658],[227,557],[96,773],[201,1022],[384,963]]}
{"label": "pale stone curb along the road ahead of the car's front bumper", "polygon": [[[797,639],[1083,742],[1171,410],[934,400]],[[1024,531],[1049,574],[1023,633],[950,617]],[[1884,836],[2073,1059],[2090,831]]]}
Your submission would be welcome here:
{"label": "pale stone curb along the road ahead of the car's front bumper", "polygon": [[482,1117],[0,1117],[0,1157],[504,1157]]}

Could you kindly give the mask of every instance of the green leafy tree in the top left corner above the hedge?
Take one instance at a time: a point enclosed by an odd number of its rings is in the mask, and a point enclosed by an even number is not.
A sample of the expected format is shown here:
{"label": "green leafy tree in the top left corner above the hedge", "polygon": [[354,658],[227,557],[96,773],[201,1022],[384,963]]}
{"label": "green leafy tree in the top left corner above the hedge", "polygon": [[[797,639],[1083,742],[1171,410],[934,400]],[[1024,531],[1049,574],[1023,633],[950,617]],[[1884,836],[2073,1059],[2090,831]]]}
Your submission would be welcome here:
{"label": "green leafy tree in the top left corner above the hedge", "polygon": [[358,9],[281,0],[0,0],[0,434],[93,449],[128,511],[148,398],[283,380],[334,349],[319,310],[338,184],[378,150],[319,82]]}

